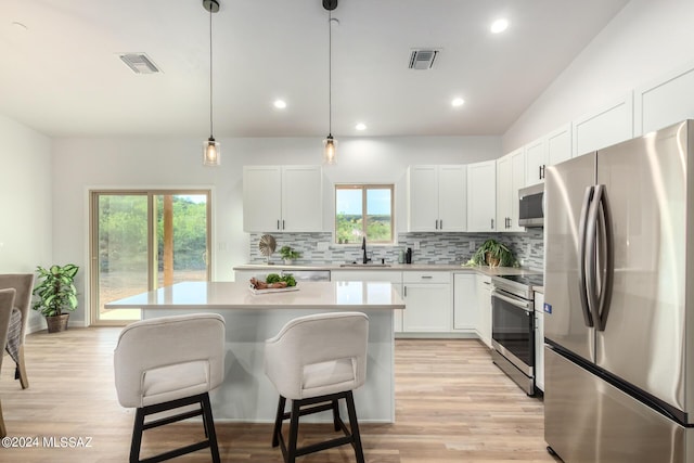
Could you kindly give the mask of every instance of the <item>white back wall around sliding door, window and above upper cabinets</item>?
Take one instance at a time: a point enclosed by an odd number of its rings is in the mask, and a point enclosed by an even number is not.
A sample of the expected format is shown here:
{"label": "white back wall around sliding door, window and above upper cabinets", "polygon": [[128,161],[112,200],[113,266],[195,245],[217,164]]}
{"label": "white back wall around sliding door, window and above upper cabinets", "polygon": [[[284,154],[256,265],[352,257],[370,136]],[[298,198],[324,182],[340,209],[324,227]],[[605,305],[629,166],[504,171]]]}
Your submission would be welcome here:
{"label": "white back wall around sliding door, window and above upper cabinets", "polygon": [[[53,260],[88,268],[88,192],[94,189],[211,188],[213,279],[233,280],[248,260],[243,232],[244,165],[320,164],[319,138],[221,139],[221,166],[202,165],[200,140],[175,138],[69,138],[53,140]],[[339,139],[336,166],[326,167],[325,207],[332,182],[395,182],[398,229],[404,230],[404,179],[410,164],[468,164],[501,155],[499,137]],[[333,220],[325,217],[325,230]],[[85,273],[86,274],[86,273]],[[87,284],[79,287],[85,320]]]}

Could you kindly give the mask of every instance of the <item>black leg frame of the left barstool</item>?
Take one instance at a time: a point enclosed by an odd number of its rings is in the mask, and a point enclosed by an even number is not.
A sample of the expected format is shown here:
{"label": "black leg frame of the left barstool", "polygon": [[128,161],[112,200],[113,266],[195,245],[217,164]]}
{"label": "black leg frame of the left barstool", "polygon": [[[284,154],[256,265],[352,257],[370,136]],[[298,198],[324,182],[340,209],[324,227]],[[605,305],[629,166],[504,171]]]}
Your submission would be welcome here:
{"label": "black leg frame of the left barstool", "polygon": [[[200,404],[200,409],[189,412],[179,413],[160,420],[154,420],[144,423],[144,417],[154,413],[160,413],[167,410],[176,410],[181,407]],[[142,433],[145,429],[164,426],[165,424],[176,423],[189,417],[203,415],[203,425],[205,426],[206,440],[181,447],[168,452],[149,459],[140,460],[140,447],[142,446]],[[215,422],[213,421],[213,408],[209,403],[209,394],[204,393],[197,396],[185,397],[183,399],[171,400],[164,403],[156,403],[137,409],[134,414],[134,425],[132,427],[132,443],[130,445],[130,463],[154,463],[170,460],[176,456],[195,452],[197,450],[209,448],[213,454],[213,462],[219,463],[219,448],[217,447],[217,434],[215,433]]]}

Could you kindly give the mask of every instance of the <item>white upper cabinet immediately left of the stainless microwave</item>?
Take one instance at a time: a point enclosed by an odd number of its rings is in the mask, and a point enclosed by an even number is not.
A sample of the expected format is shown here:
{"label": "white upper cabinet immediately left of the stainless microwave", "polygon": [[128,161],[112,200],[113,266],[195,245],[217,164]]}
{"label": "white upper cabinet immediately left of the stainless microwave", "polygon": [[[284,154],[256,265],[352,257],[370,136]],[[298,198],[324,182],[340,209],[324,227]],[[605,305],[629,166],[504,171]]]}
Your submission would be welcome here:
{"label": "white upper cabinet immediately left of the stainless microwave", "polygon": [[524,231],[518,226],[518,189],[525,187],[525,153],[516,150],[497,159],[497,230]]}

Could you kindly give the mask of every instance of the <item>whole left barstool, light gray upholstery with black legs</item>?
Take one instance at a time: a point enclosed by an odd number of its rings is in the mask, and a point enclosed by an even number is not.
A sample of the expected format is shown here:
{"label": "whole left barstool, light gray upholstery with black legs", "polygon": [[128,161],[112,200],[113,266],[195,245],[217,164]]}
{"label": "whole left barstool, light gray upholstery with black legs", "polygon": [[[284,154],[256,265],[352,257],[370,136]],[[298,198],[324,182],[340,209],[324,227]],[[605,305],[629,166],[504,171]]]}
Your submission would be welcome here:
{"label": "whole left barstool, light gray upholstery with black legs", "polygon": [[[206,440],[146,461],[168,460],[209,447],[213,461],[219,462],[209,391],[224,377],[224,319],[220,314],[162,317],[129,324],[118,337],[114,372],[118,401],[137,409],[130,462],[140,461],[145,429],[200,415]],[[194,404],[198,407],[191,411],[189,406]],[[177,414],[144,422],[147,415],[169,410],[177,410]]]}

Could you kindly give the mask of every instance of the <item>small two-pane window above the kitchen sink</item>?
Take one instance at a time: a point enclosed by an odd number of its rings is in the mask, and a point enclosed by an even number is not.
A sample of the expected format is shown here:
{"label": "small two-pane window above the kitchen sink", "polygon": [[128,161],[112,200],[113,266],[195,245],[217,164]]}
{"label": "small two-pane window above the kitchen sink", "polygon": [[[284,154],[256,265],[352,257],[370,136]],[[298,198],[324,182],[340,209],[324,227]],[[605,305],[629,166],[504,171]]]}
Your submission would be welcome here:
{"label": "small two-pane window above the kitchen sink", "polygon": [[335,243],[391,244],[393,185],[335,185]]}

